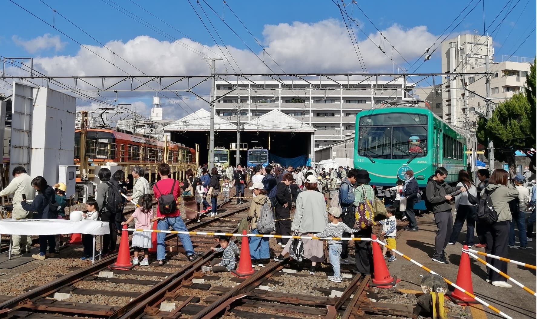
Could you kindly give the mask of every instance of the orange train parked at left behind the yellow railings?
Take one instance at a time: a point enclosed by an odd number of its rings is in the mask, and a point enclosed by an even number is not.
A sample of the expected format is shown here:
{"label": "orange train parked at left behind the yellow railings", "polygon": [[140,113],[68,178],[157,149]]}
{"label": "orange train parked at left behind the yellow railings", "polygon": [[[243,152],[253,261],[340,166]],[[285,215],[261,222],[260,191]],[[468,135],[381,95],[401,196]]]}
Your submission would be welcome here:
{"label": "orange train parked at left behind the yellow railings", "polygon": [[[162,163],[164,142],[146,137],[113,131],[112,129],[88,129],[86,156],[90,163],[114,162],[118,164]],[[168,142],[169,164],[195,164],[195,150],[174,142]],[[75,163],[80,162],[80,130],[75,131]]]}

